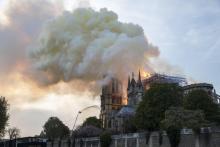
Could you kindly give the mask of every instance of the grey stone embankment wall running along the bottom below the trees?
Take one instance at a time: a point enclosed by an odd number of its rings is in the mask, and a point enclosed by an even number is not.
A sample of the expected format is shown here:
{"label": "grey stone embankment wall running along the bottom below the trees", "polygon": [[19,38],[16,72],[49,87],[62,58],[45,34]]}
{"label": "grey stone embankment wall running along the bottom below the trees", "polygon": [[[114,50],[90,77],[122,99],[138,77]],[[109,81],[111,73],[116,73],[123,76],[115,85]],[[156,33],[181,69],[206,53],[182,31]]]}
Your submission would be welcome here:
{"label": "grey stone embankment wall running along the bottom below the trees", "polygon": [[[148,141],[146,138],[149,138]],[[159,133],[133,133],[113,135],[111,147],[170,147],[166,133],[162,134],[162,143],[159,143]],[[75,144],[75,146],[74,146]],[[100,147],[98,137],[81,138],[74,140],[56,140],[48,142],[47,147]],[[182,131],[179,147],[220,147],[220,131],[212,133],[202,132],[194,135],[191,131]]]}

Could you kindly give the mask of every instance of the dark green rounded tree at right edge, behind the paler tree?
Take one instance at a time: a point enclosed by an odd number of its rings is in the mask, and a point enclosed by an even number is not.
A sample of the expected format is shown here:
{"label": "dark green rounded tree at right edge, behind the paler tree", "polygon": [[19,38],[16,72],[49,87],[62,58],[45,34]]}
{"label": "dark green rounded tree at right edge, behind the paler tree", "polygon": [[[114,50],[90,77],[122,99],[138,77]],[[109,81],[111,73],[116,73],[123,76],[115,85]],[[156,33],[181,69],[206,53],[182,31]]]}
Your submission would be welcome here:
{"label": "dark green rounded tree at right edge, behind the paler tree", "polygon": [[184,97],[184,108],[188,110],[202,110],[205,119],[220,123],[220,109],[212,97],[204,90],[193,90]]}

